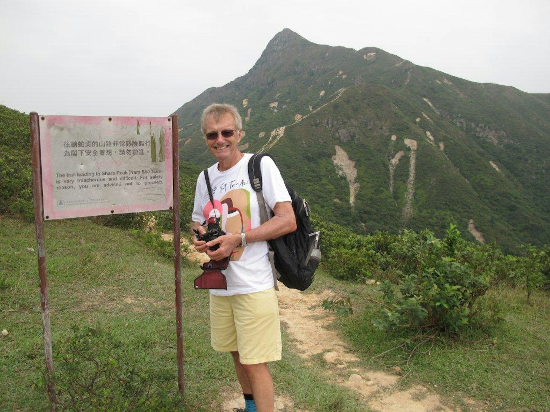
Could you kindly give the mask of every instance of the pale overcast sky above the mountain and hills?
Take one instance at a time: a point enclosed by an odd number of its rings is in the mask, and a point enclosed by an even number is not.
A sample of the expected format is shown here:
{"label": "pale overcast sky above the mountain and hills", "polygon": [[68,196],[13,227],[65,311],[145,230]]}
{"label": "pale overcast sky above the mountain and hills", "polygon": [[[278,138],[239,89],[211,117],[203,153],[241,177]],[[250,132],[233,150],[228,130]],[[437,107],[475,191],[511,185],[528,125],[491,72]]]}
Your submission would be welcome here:
{"label": "pale overcast sky above the mountain and hills", "polygon": [[285,27],[476,82],[550,92],[549,0],[0,0],[0,104],[167,116]]}

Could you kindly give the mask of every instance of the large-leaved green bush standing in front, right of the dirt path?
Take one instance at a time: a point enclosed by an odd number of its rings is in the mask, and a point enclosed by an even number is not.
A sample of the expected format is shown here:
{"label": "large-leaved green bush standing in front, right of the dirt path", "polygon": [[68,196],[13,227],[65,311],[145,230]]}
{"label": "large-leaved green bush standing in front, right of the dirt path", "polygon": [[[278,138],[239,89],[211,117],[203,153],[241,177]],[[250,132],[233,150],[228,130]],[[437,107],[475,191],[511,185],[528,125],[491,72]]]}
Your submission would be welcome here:
{"label": "large-leaved green bush standing in front, right of the dirt path", "polygon": [[454,225],[442,240],[405,231],[393,249],[399,281],[397,290],[389,281],[380,287],[384,309],[375,324],[382,329],[458,332],[480,312],[477,299],[507,275],[499,249],[464,241]]}

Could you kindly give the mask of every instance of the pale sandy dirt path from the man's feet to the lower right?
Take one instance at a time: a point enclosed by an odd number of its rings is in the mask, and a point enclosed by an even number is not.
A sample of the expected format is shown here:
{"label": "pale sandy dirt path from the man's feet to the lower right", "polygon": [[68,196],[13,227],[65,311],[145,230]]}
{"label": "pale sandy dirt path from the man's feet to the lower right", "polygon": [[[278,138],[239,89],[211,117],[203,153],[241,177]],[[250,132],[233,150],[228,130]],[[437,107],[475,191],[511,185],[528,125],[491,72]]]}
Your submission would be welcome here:
{"label": "pale sandy dirt path from the man's feet to the lower right", "polygon": [[[406,390],[397,389],[400,375],[389,372],[368,370],[358,366],[360,360],[350,353],[346,344],[336,332],[327,329],[334,320],[334,314],[323,310],[321,303],[331,297],[330,291],[318,293],[301,293],[281,287],[278,292],[281,320],[287,326],[296,349],[304,359],[313,355],[323,354],[327,364],[327,378],[354,391],[365,402],[365,410],[379,412],[466,412],[482,409],[473,402],[467,409],[453,407],[452,399],[442,399],[430,388],[415,385]],[[230,412],[240,407],[242,394],[239,388],[227,393],[222,412]],[[276,411],[315,412],[295,409],[292,399],[281,393],[276,393]]]}

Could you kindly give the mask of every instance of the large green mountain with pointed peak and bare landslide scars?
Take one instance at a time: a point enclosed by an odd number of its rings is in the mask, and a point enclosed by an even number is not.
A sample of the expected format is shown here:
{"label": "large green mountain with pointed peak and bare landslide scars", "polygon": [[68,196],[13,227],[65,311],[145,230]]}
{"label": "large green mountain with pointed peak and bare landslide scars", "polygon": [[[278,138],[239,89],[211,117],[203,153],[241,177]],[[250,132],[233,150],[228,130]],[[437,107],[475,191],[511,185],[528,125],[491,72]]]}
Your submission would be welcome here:
{"label": "large green mountain with pointed peak and bare landslide scars", "polygon": [[[471,240],[509,251],[550,240],[547,94],[466,81],[373,47],[314,44],[285,29],[246,75],[177,110],[180,155],[200,166],[212,163],[200,113],[214,102],[239,108],[241,150],[271,152],[313,210],[357,232],[428,227],[441,235],[455,222]],[[335,165],[337,153],[337,163],[353,163]]]}

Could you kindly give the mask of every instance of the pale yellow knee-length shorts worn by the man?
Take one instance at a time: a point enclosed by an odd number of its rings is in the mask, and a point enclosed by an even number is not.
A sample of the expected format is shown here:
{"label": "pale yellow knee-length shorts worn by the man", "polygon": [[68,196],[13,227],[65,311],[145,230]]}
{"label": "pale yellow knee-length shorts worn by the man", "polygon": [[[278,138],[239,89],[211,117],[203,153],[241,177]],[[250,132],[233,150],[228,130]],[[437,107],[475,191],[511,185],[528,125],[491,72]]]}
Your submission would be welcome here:
{"label": "pale yellow knee-length shorts worn by the man", "polygon": [[233,296],[210,295],[212,347],[239,351],[242,364],[281,359],[281,323],[275,289]]}

